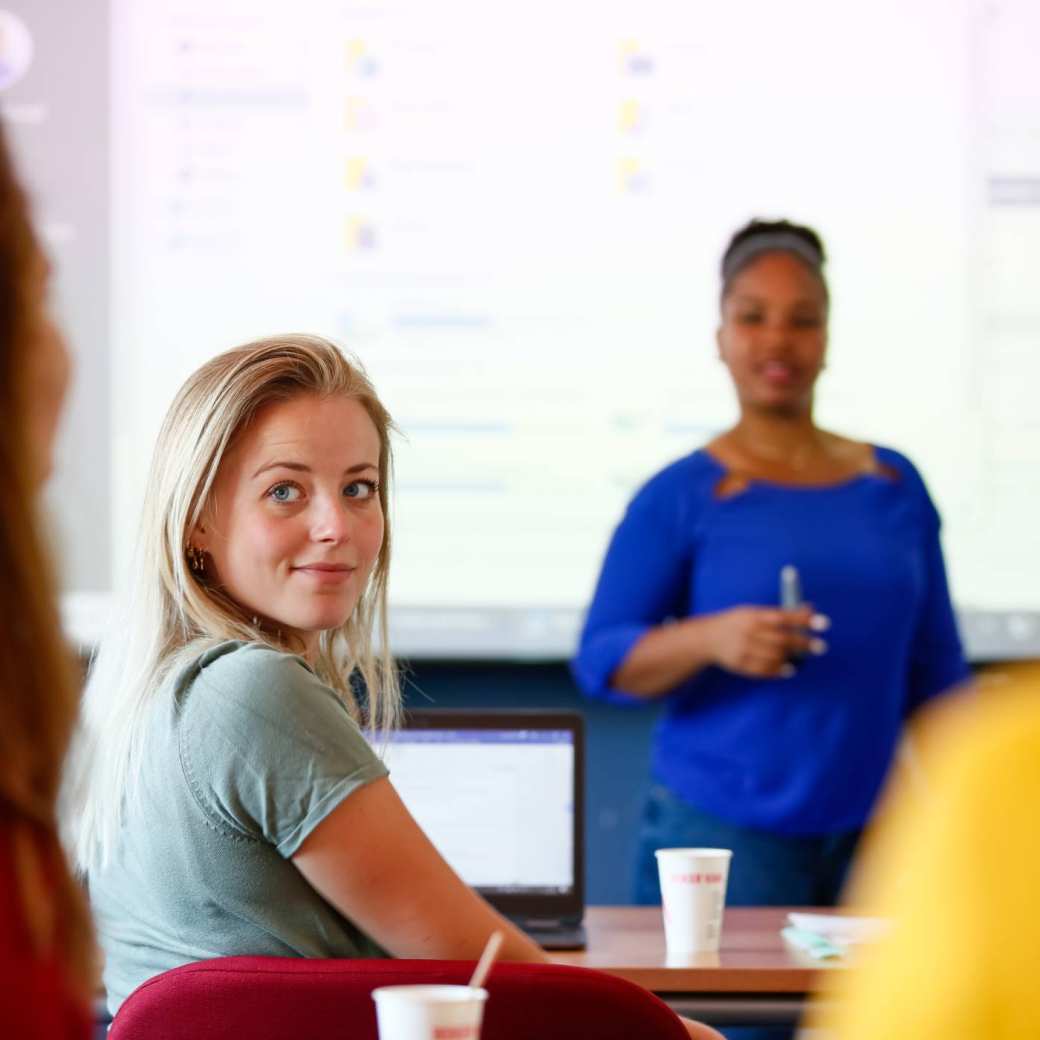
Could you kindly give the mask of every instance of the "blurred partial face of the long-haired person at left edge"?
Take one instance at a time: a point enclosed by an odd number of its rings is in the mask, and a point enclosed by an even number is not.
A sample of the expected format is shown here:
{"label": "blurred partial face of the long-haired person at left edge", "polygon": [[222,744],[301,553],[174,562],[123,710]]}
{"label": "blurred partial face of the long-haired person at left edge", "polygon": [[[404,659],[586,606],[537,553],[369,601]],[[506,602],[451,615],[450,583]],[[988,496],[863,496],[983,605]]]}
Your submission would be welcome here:
{"label": "blurred partial face of the long-haired person at left edge", "polygon": [[26,438],[31,453],[31,472],[42,485],[54,466],[54,441],[72,364],[64,339],[47,310],[50,265],[37,256],[30,275],[28,343],[22,370]]}

